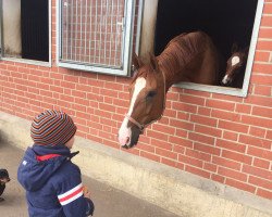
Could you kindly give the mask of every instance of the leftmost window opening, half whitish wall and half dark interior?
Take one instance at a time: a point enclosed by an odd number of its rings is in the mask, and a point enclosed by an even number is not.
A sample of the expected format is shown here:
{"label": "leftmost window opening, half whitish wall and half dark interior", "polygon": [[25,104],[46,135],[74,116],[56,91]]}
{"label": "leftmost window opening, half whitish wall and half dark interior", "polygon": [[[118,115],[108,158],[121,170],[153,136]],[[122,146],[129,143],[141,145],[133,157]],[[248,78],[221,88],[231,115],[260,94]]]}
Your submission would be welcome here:
{"label": "leftmost window opening, half whitish wall and half dark interior", "polygon": [[1,56],[49,62],[48,0],[2,0]]}

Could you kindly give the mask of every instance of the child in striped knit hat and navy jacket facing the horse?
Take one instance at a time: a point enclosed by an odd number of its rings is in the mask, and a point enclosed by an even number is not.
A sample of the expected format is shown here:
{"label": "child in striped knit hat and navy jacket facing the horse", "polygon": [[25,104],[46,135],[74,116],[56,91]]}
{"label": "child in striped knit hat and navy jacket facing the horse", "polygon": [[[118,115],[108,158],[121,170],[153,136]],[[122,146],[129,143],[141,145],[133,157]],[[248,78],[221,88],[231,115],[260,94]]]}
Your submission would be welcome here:
{"label": "child in striped knit hat and navy jacket facing the horse", "polygon": [[71,162],[76,126],[59,111],[48,110],[32,123],[34,145],[28,148],[17,170],[26,190],[29,217],[85,217],[94,203],[82,184],[79,168]]}

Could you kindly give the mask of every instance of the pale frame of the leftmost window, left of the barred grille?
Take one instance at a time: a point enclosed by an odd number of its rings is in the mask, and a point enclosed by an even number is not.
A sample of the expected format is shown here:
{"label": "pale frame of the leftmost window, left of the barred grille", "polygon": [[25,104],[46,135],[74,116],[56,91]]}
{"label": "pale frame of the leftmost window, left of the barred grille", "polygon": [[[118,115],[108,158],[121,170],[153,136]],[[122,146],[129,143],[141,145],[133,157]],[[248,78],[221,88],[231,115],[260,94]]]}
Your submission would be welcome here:
{"label": "pale frame of the leftmost window, left of the barred grille", "polygon": [[52,0],[48,0],[48,37],[49,37],[49,61],[36,61],[36,60],[28,60],[28,59],[20,59],[20,58],[5,58],[3,56],[3,18],[2,18],[2,12],[3,12],[3,1],[0,0],[0,60],[1,61],[8,61],[8,62],[15,62],[15,63],[24,63],[29,65],[38,65],[38,66],[45,66],[45,67],[51,67],[52,66]]}

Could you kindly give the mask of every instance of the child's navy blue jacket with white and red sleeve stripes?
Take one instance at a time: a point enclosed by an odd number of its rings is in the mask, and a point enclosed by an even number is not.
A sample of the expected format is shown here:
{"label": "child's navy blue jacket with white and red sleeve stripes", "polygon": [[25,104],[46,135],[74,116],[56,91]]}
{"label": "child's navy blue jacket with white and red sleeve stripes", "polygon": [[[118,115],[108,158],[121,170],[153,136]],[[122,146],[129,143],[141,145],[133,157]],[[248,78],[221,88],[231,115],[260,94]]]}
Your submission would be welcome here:
{"label": "child's navy blue jacket with white and red sleeve stripes", "polygon": [[26,150],[17,179],[26,190],[29,217],[92,215],[94,203],[83,196],[81,170],[71,162],[77,153],[65,145],[34,144]]}

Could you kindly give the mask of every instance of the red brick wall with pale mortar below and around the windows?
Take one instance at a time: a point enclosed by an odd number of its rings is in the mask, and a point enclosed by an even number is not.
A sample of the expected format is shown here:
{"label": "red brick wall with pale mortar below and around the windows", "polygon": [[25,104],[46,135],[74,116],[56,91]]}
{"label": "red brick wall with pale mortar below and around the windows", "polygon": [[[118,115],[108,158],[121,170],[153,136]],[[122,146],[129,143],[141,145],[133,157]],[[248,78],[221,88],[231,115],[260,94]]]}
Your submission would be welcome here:
{"label": "red brick wall with pale mortar below and around the windows", "polygon": [[[77,136],[120,149],[129,78],[1,61],[0,110],[26,119],[70,113]],[[265,0],[247,98],[171,88],[163,118],[128,152],[272,199],[272,0]],[[125,150],[123,150],[125,151]]]}

